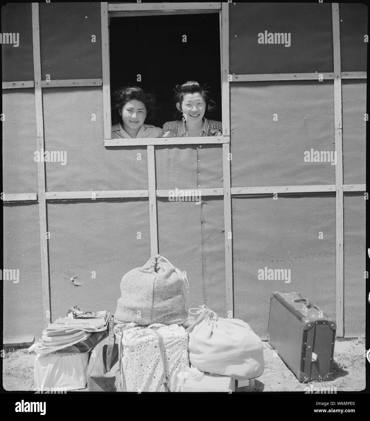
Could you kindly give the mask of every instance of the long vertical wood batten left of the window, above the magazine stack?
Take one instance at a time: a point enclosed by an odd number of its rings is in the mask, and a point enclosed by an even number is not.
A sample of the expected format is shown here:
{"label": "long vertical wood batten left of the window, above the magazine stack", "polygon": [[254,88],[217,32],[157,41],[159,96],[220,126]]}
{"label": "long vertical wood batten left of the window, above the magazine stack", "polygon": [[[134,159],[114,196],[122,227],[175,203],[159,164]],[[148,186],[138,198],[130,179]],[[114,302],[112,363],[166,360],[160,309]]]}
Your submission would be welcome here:
{"label": "long vertical wood batten left of the window, above the magazine stack", "polygon": [[[35,109],[36,109],[36,131],[37,150],[40,156],[45,150],[44,141],[44,119],[43,119],[43,95],[41,91],[41,55],[40,55],[40,19],[38,3],[32,3],[32,42],[33,42],[33,69],[35,79]],[[40,160],[41,161],[41,160]],[[43,294],[43,321],[44,326],[51,322],[51,302],[50,302],[50,280],[49,280],[49,258],[47,219],[46,219],[46,181],[45,163],[37,163],[38,178],[38,206],[40,219],[40,253],[41,253],[41,290]]]}

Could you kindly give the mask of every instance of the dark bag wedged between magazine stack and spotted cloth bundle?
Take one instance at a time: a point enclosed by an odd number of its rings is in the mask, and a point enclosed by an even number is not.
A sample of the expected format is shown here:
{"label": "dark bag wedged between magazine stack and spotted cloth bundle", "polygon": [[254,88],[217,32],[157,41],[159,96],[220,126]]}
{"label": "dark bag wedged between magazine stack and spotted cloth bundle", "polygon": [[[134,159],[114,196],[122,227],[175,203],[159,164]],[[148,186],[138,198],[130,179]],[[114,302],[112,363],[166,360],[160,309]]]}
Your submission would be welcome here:
{"label": "dark bag wedged between magazine stack and spotted cloth bundle", "polygon": [[114,319],[111,316],[108,332],[91,351],[87,372],[88,391],[117,392],[115,375],[118,370],[118,344],[115,343]]}

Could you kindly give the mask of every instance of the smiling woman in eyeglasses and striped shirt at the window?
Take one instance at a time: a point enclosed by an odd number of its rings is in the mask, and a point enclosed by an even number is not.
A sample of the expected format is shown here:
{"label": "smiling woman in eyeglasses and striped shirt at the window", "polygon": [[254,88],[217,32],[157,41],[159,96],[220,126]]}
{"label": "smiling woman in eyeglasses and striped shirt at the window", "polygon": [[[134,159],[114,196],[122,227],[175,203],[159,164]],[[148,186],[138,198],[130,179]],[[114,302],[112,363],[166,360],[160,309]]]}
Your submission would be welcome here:
{"label": "smiling woman in eyeglasses and striped shirt at the window", "polygon": [[222,136],[221,122],[204,117],[206,111],[214,108],[204,87],[190,80],[176,85],[175,93],[179,120],[164,123],[163,137]]}

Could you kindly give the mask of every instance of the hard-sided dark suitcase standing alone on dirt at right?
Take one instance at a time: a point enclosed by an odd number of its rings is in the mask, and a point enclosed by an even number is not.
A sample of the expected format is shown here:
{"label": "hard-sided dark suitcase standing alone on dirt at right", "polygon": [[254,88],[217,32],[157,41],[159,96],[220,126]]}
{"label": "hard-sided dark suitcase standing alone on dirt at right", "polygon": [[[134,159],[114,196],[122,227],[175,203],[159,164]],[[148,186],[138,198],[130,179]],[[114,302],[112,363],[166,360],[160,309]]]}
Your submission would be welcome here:
{"label": "hard-sided dark suitcase standing alone on dirt at right", "polygon": [[295,292],[273,292],[268,319],[268,343],[299,381],[329,381],[332,377],[335,320]]}

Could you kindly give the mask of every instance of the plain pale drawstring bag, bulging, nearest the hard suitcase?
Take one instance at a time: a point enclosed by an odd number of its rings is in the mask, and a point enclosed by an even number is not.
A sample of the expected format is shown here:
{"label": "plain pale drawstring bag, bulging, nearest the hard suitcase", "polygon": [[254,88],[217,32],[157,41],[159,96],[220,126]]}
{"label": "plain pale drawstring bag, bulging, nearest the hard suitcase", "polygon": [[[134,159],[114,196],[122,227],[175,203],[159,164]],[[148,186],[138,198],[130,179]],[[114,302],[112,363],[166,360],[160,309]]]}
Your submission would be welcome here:
{"label": "plain pale drawstring bag, bulging, nearest the hard suitcase", "polygon": [[198,319],[186,329],[190,364],[198,370],[237,380],[263,373],[263,343],[248,323],[218,317],[206,306],[201,306],[197,313]]}

